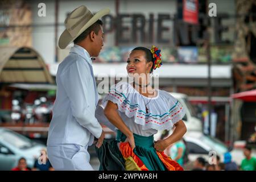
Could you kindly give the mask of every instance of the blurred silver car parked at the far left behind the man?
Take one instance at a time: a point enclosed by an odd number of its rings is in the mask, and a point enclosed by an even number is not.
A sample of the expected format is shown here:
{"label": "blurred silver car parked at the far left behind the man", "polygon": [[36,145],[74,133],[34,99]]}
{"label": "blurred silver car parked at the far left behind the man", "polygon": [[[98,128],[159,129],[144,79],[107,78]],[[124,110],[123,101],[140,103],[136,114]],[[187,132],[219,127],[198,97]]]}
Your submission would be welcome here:
{"label": "blurred silver car parked at the far left behind the man", "polygon": [[27,167],[32,168],[43,148],[46,146],[0,127],[0,170],[11,170],[22,157],[27,160]]}

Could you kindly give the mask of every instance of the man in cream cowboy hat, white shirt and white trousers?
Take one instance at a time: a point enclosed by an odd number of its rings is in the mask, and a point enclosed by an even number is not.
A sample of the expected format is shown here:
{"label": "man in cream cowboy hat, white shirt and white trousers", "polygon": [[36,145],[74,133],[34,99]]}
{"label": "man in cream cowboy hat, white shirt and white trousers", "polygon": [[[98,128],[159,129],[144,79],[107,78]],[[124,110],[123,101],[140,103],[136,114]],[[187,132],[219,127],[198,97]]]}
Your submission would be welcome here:
{"label": "man in cream cowboy hat, white shirt and white trousers", "polygon": [[93,170],[88,146],[100,147],[104,131],[94,116],[98,92],[91,57],[99,55],[103,46],[103,9],[93,15],[85,6],[73,10],[65,19],[66,30],[59,47],[74,42],[69,55],[59,64],[56,75],[57,93],[49,126],[47,152],[55,170]]}

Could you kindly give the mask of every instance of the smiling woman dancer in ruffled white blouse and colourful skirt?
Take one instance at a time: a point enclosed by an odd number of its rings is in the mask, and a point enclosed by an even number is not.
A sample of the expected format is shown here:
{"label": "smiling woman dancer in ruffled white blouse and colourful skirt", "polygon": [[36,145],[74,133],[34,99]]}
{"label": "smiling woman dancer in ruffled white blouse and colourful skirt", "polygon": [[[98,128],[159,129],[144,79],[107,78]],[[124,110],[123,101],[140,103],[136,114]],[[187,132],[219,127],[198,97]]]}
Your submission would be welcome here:
{"label": "smiling woman dancer in ruffled white blouse and colourful skirt", "polygon": [[[162,65],[160,56],[160,50],[154,46],[151,50],[133,49],[126,69],[134,82],[119,82],[102,100],[106,118],[117,129],[116,140],[109,147],[112,148],[110,154],[115,153],[115,159],[119,156],[126,170],[183,170],[163,152],[181,139],[187,129],[182,121],[185,110],[181,104],[169,93],[150,85],[150,73]],[[170,137],[154,142],[158,130],[169,130],[174,126]]]}

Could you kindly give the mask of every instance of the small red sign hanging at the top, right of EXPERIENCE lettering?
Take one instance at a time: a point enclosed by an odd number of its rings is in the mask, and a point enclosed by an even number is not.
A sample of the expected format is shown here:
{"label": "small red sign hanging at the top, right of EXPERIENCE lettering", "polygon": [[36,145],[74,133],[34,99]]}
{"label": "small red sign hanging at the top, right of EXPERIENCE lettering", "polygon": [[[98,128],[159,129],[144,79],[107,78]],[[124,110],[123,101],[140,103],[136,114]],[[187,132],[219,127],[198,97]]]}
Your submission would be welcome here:
{"label": "small red sign hanging at the top, right of EXPERIENCE lettering", "polygon": [[183,0],[184,22],[198,24],[198,11],[198,0]]}

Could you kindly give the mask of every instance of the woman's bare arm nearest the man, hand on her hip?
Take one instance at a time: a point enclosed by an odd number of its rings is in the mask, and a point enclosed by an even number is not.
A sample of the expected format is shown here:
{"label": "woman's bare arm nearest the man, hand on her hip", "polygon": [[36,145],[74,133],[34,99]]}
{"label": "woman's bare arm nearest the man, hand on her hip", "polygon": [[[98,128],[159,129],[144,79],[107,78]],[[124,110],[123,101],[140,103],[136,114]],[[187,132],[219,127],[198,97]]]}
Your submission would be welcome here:
{"label": "woman's bare arm nearest the man, hand on her hip", "polygon": [[108,104],[106,105],[104,109],[104,114],[106,118],[109,119],[109,121],[117,127],[123,134],[126,135],[127,141],[130,143],[130,146],[132,149],[135,148],[135,142],[133,133],[131,130],[125,125],[122,118],[118,114],[118,106],[114,104],[112,101],[108,101]]}

